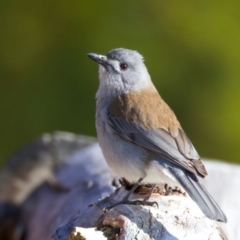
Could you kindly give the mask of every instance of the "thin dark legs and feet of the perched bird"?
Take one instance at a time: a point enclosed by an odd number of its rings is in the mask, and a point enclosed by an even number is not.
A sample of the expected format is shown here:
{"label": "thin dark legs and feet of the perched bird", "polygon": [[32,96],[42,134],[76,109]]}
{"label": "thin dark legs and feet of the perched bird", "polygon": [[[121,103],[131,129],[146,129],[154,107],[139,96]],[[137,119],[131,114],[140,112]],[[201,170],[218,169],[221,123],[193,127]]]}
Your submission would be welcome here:
{"label": "thin dark legs and feet of the perched bird", "polygon": [[149,198],[156,186],[156,184],[154,184],[150,190],[150,192],[148,193],[148,195],[143,199],[143,200],[135,200],[135,201],[130,201],[129,200],[129,197],[131,196],[131,194],[136,190],[136,188],[138,187],[138,185],[142,182],[143,178],[139,178],[138,181],[133,185],[133,187],[131,188],[131,190],[129,191],[129,193],[119,202],[107,207],[106,209],[109,210],[117,205],[120,205],[120,204],[131,204],[131,205],[139,205],[139,204],[142,204],[142,205],[148,205],[148,206],[153,206],[154,204],[157,204],[157,202],[149,202]]}

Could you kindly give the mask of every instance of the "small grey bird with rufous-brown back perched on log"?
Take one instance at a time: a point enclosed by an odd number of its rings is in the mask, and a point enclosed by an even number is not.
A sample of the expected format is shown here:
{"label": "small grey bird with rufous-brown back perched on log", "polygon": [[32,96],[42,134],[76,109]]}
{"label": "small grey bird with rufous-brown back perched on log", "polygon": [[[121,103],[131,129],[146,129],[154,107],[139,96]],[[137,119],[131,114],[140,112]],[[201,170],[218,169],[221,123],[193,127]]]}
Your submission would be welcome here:
{"label": "small grey bird with rufous-brown back perched on log", "polygon": [[[87,54],[99,65],[96,93],[97,138],[114,175],[139,184],[179,186],[209,219],[227,222],[199,182],[207,170],[177,117],[154,86],[144,59],[135,50],[116,48]],[[139,201],[138,201],[139,202]]]}

